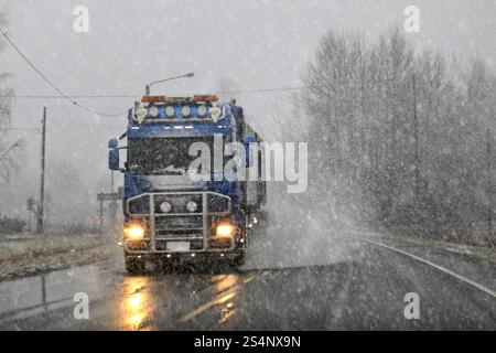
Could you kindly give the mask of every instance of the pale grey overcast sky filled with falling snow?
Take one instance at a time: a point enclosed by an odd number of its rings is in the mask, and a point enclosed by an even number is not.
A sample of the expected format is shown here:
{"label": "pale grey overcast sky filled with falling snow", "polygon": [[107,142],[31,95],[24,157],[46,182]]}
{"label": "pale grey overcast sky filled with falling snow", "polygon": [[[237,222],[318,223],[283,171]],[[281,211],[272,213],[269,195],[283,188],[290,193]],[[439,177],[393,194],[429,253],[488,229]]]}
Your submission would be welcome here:
{"label": "pale grey overcast sky filled with falling snow", "polygon": [[[443,53],[481,55],[496,62],[496,1],[310,1],[310,0],[14,0],[0,1],[8,31],[25,55],[68,95],[142,94],[147,82],[194,72],[195,77],[162,85],[157,93],[208,93],[220,79],[234,89],[293,87],[302,84],[320,36],[330,28],[374,36],[391,23],[402,28],[403,9],[420,9],[417,45]],[[89,10],[89,32],[73,30],[76,6]],[[19,96],[56,94],[10,47],[0,54],[0,72],[12,74]],[[268,119],[290,94],[237,95],[248,120],[269,138],[280,131]],[[79,99],[101,113],[125,111],[132,98]],[[54,189],[64,161],[87,183],[91,207],[107,180],[107,140],[122,132],[125,117],[98,117],[60,99],[18,98],[13,124],[39,125],[48,107],[47,168]],[[23,200],[36,194],[39,136],[29,141],[25,169],[0,195]],[[68,167],[67,167],[68,168]],[[53,195],[53,197],[56,197]],[[82,200],[88,203],[87,200]],[[22,204],[21,204],[22,203]]]}

